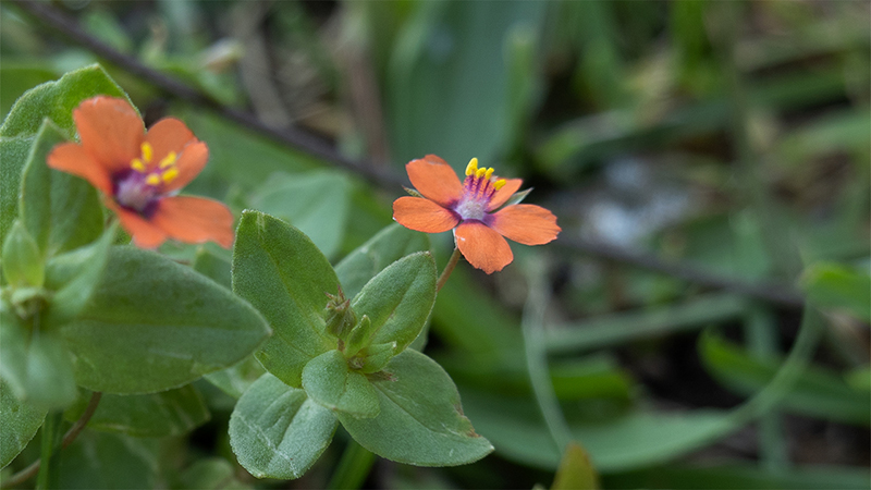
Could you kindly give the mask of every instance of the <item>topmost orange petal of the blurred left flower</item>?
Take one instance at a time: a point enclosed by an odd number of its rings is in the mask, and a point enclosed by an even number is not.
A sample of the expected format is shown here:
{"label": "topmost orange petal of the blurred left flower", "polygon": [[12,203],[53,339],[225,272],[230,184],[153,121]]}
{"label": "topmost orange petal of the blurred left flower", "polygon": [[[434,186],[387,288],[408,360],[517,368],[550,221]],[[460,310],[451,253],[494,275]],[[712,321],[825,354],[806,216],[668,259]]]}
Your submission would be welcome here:
{"label": "topmost orange petal of the blurred left flower", "polygon": [[82,146],[110,174],[130,168],[139,156],[145,126],[124,99],[94,97],[73,111]]}

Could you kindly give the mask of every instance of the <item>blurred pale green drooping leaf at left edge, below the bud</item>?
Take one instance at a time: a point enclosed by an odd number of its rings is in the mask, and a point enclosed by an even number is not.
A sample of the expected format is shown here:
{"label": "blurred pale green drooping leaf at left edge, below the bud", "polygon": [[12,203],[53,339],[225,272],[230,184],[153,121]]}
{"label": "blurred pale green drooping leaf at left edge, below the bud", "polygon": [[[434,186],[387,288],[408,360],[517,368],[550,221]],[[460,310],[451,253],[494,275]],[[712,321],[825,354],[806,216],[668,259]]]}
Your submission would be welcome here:
{"label": "blurred pale green drooping leaf at left edge, below the bud", "polygon": [[34,333],[17,316],[0,309],[0,376],[15,396],[42,408],[62,408],[76,399],[72,369],[58,332]]}

